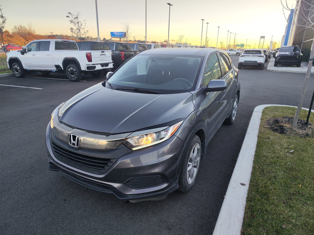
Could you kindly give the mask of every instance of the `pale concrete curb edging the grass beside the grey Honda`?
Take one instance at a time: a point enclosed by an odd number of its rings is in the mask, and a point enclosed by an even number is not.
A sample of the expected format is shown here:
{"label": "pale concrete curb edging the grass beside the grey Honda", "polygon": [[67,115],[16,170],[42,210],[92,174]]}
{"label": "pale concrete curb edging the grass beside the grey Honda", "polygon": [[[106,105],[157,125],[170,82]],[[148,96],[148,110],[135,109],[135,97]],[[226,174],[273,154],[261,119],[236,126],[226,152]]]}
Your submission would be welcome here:
{"label": "pale concrete curb edging the grass beside the grey Honda", "polygon": [[[295,107],[276,104],[264,104],[255,107],[227,188],[224,202],[219,212],[213,235],[241,234],[259,125],[263,109],[269,106]],[[302,109],[309,110],[308,108]],[[311,112],[314,112],[314,110]]]}

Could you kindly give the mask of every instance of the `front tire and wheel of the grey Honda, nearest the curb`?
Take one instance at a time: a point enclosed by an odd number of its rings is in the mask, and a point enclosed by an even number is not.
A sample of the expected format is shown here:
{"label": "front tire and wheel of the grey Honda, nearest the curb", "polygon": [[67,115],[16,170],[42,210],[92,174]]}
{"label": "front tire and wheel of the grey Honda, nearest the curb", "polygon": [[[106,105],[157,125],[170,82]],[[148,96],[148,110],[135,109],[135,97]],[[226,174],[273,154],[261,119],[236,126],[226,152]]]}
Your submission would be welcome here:
{"label": "front tire and wheel of the grey Honda, nearest the curb", "polygon": [[181,192],[189,191],[195,183],[202,153],[202,143],[198,135],[193,135],[185,151],[181,165],[179,188]]}

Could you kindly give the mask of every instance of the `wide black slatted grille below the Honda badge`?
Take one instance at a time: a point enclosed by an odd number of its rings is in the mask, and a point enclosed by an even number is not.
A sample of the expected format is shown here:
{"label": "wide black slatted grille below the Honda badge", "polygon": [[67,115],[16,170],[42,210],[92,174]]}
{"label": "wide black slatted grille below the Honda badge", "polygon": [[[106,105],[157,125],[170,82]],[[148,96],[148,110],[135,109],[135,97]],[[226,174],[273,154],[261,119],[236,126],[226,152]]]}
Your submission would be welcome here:
{"label": "wide black slatted grille below the Honda badge", "polygon": [[63,163],[89,173],[103,175],[113,164],[111,159],[95,158],[63,149],[51,143],[54,156]]}

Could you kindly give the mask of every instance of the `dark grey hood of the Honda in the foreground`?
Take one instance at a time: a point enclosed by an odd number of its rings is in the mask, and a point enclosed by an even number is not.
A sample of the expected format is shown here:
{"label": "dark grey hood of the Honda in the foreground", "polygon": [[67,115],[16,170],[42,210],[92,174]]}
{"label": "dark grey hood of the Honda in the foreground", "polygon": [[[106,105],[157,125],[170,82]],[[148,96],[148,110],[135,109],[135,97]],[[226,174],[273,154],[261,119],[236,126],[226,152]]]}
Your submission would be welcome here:
{"label": "dark grey hood of the Honda in the foreground", "polygon": [[118,91],[100,84],[68,100],[60,122],[103,133],[126,133],[171,122],[195,109],[192,94],[143,94]]}

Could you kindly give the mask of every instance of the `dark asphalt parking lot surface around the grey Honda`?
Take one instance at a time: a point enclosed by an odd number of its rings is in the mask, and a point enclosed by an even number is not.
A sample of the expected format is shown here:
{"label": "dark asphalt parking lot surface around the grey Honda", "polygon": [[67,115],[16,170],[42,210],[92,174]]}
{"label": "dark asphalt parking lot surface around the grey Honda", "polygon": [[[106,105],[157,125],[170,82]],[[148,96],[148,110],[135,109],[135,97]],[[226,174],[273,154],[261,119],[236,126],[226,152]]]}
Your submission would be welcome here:
{"label": "dark asphalt parking lot surface around the grey Honda", "polygon": [[[239,57],[231,59],[237,67]],[[47,168],[45,132],[51,112],[105,77],[83,76],[80,82],[64,74],[0,78],[0,234],[211,234],[253,109],[299,102],[305,74],[266,67],[240,70],[236,123],[223,124],[211,140],[192,190],[136,204]],[[309,107],[313,89],[311,76],[303,107]]]}

